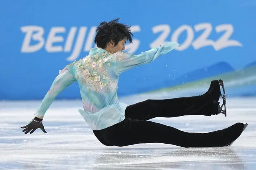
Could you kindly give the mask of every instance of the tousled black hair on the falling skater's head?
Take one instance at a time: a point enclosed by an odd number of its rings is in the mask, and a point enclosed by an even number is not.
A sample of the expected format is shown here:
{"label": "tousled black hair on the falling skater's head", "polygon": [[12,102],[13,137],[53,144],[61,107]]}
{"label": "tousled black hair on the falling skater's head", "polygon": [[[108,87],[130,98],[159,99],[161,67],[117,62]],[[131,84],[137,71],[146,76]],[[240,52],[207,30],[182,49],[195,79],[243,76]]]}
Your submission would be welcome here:
{"label": "tousled black hair on the falling skater's head", "polygon": [[110,22],[104,21],[99,24],[94,40],[98,47],[105,49],[107,47],[107,43],[109,43],[111,40],[113,40],[116,46],[118,42],[124,38],[129,40],[130,43],[133,42],[131,38],[133,33],[131,33],[131,30],[129,29],[131,26],[118,23],[119,19],[120,18],[117,18]]}

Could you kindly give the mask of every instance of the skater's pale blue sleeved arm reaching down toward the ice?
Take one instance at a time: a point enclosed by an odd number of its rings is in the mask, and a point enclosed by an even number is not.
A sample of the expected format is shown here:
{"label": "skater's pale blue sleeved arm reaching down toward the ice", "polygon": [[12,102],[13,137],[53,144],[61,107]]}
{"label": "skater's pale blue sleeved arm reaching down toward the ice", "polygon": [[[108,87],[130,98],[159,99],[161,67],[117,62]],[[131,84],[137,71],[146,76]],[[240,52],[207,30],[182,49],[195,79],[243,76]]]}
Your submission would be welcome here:
{"label": "skater's pale blue sleeved arm reaching down toward the ice", "polygon": [[75,81],[76,79],[71,74],[69,66],[60,70],[58,76],[54,79],[49,91],[42,100],[39,109],[36,111],[35,117],[43,119],[45,112],[50,107],[56,96]]}

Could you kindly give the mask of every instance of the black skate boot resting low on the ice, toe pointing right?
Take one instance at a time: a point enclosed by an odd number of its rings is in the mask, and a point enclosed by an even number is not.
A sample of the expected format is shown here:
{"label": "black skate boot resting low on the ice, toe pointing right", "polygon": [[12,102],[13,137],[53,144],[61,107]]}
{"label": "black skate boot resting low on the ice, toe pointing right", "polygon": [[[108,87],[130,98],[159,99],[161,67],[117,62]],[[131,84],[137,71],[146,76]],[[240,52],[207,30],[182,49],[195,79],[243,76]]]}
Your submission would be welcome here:
{"label": "black skate boot resting low on the ice, toe pointing right", "polygon": [[236,123],[228,128],[219,130],[225,141],[224,146],[230,146],[242,134],[247,126],[247,123]]}

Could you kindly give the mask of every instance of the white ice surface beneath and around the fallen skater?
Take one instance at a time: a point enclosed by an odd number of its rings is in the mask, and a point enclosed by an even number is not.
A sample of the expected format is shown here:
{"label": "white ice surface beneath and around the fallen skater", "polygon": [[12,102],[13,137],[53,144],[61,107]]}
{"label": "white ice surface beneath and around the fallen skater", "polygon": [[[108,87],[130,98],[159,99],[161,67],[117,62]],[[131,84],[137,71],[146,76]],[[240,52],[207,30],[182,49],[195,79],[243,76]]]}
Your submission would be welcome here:
{"label": "white ice surface beneath and around the fallen skater", "polygon": [[[133,104],[147,96],[126,97]],[[0,102],[0,169],[255,170],[256,98],[227,99],[227,117],[155,118],[187,132],[208,132],[236,122],[248,127],[232,146],[181,148],[168,144],[104,146],[77,111],[81,101],[54,101],[44,117],[44,134],[24,134],[40,101]]]}

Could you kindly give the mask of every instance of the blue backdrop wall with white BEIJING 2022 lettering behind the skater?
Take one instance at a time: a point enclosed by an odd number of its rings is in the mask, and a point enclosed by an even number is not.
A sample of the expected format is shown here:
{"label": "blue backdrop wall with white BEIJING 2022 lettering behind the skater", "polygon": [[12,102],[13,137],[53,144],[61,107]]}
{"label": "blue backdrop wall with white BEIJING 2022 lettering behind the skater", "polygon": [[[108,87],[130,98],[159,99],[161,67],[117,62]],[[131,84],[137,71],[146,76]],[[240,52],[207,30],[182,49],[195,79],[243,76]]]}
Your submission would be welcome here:
{"label": "blue backdrop wall with white BEIJING 2022 lettering behind the skater", "polygon": [[[180,43],[123,73],[119,96],[182,90],[217,78],[224,79],[229,95],[256,95],[255,16],[255,0],[3,0],[0,99],[42,99],[60,69],[95,47],[99,23],[118,17],[132,26],[129,53]],[[77,83],[57,98],[80,98]]]}

